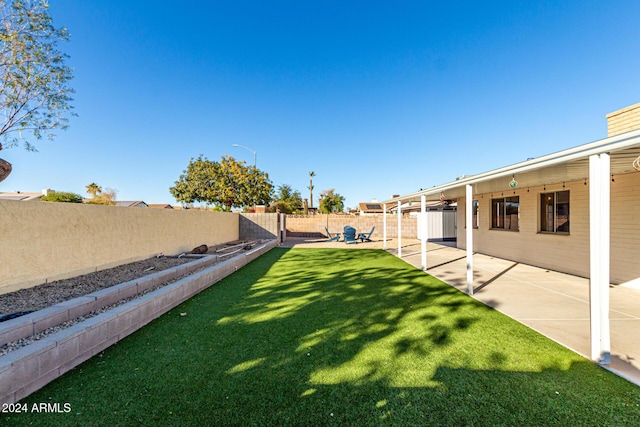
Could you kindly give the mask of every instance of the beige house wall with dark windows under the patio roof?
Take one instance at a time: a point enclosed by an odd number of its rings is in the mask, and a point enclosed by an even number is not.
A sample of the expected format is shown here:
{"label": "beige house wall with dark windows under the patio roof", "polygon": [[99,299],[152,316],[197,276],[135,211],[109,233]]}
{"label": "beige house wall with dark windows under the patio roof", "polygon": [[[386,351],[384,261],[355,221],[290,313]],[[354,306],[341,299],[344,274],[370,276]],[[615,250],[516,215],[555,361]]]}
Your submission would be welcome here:
{"label": "beige house wall with dark windows under the patio roof", "polygon": [[[585,185],[587,182],[587,185]],[[540,233],[540,194],[569,190],[570,234]],[[479,226],[473,232],[473,250],[582,277],[589,276],[589,184],[517,188],[504,196],[519,196],[519,231],[491,229],[491,199],[501,193],[478,194]],[[458,201],[459,248],[466,249],[464,198]],[[616,175],[611,182],[611,282],[640,277],[640,173]]]}

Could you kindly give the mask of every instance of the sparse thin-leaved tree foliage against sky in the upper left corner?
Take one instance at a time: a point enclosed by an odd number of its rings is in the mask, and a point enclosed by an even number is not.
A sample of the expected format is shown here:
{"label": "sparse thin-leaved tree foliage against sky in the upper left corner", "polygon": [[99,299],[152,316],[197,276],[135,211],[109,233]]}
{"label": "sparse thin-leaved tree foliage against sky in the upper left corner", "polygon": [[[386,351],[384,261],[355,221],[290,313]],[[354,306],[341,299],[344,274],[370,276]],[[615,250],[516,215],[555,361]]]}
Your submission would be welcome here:
{"label": "sparse thin-leaved tree foliage against sky in the upper left corner", "polygon": [[[35,151],[30,137],[53,139],[66,129],[73,107],[73,78],[58,43],[66,28],[55,28],[46,0],[0,0],[0,138],[5,148],[23,145]],[[1,148],[1,146],[0,146]]]}

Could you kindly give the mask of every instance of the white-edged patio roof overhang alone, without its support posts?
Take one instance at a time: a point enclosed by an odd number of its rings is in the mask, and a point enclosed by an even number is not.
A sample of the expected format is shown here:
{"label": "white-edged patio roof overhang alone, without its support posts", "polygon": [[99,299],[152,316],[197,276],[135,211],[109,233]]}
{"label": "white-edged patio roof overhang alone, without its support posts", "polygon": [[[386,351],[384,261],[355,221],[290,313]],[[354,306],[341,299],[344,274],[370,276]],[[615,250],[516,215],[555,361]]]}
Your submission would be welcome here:
{"label": "white-edged patio roof overhang alone, without its support posts", "polygon": [[519,188],[587,180],[589,178],[589,156],[600,153],[610,154],[612,175],[635,171],[632,163],[640,157],[640,130],[536,157],[489,172],[466,176],[415,193],[393,197],[382,203],[417,202],[420,201],[422,195],[426,196],[427,201],[439,200],[442,194],[447,199],[455,200],[465,196],[467,184],[472,185],[474,194],[512,190],[509,187],[509,181],[512,178],[518,182]]}

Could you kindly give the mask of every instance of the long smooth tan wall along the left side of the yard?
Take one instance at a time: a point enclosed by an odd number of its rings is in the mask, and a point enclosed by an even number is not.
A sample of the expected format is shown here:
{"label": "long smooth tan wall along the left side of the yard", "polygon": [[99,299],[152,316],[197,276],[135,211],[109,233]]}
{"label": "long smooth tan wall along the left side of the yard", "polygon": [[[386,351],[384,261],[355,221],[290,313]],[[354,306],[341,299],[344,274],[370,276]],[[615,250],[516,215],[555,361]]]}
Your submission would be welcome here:
{"label": "long smooth tan wall along the left side of the yard", "polygon": [[0,200],[0,293],[238,238],[232,213]]}

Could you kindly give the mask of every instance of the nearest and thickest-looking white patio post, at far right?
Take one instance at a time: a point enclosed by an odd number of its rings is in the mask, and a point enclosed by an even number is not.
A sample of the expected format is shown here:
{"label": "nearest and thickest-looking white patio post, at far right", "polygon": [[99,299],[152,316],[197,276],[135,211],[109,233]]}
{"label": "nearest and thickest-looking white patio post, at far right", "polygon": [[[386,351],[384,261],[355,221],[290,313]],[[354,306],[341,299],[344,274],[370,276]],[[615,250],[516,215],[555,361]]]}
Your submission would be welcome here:
{"label": "nearest and thickest-looking white patio post, at far right", "polygon": [[591,359],[609,364],[609,245],[611,206],[611,161],[609,154],[589,157],[589,305],[591,316]]}

